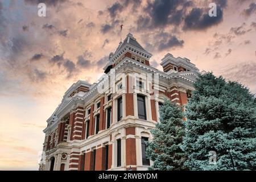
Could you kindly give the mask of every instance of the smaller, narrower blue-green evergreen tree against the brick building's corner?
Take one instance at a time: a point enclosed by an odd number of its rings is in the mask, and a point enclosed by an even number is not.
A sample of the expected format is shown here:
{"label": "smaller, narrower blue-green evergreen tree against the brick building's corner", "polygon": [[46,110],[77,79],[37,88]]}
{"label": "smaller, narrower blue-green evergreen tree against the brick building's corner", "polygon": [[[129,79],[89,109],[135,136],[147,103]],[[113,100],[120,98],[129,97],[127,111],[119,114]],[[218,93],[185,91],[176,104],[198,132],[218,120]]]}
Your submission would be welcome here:
{"label": "smaller, narrower blue-green evergreen tree against the brick building's corner", "polygon": [[154,162],[149,170],[182,170],[185,161],[180,148],[185,134],[183,111],[181,107],[165,100],[160,107],[160,122],[151,130],[152,142],[147,142],[146,155]]}

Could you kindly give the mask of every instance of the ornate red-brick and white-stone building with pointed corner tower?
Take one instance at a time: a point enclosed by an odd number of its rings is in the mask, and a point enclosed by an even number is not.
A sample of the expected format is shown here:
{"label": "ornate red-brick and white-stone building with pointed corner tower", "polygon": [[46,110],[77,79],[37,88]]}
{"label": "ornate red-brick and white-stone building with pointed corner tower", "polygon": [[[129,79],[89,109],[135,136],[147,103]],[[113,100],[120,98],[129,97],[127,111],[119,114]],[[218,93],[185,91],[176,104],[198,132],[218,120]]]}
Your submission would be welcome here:
{"label": "ornate red-brick and white-stone building with pointed corner tower", "polygon": [[190,60],[170,53],[163,71],[128,34],[106,61],[97,83],[77,81],[47,120],[40,170],[146,170],[145,142],[159,122],[164,99],[180,106],[200,74]]}

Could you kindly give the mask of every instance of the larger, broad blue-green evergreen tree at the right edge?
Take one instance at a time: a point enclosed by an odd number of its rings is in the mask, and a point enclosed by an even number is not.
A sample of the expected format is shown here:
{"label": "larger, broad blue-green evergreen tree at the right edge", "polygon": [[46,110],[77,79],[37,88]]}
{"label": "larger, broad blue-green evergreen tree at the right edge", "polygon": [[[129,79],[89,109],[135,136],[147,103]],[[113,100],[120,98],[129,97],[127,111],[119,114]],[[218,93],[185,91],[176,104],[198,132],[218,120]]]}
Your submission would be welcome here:
{"label": "larger, broad blue-green evergreen tree at the right edge", "polygon": [[[195,82],[186,109],[185,166],[192,170],[256,169],[256,100],[249,89],[206,73]],[[209,164],[210,151],[217,153],[216,164]]]}

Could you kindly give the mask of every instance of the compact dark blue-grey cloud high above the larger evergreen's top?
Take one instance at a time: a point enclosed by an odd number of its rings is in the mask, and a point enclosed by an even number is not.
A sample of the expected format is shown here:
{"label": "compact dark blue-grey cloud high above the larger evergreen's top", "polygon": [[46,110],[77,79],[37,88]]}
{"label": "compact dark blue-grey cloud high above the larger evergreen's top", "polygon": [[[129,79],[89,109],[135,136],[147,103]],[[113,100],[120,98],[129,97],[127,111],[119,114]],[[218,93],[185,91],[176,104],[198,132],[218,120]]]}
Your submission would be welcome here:
{"label": "compact dark blue-grey cloud high above the larger evergreen's top", "polygon": [[204,30],[212,27],[223,20],[223,10],[217,6],[217,16],[210,17],[208,11],[193,8],[185,17],[183,30]]}

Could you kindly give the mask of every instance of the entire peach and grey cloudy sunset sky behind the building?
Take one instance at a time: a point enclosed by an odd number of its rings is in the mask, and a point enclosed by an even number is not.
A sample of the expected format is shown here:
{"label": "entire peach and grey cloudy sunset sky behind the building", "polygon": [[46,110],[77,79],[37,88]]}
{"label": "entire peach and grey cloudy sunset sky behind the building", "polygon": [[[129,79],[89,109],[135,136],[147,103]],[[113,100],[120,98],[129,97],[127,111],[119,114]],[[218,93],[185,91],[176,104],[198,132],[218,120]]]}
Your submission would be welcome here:
{"label": "entire peach and grey cloudy sunset sky behind the building", "polygon": [[170,52],[256,93],[256,0],[0,0],[0,170],[38,170],[46,120],[65,91],[97,82],[129,32],[152,67],[163,70]]}

